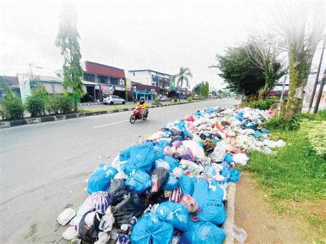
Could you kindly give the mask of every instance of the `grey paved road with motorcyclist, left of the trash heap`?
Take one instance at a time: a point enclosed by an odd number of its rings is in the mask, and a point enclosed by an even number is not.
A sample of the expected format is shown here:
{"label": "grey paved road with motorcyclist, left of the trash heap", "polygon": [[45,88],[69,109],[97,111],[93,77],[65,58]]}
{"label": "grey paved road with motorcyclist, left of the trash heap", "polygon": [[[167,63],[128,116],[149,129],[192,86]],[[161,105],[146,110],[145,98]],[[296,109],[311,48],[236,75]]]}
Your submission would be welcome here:
{"label": "grey paved road with motorcyclist, left of the trash heap", "polygon": [[85,179],[100,162],[109,163],[146,133],[187,113],[235,103],[208,100],[151,109],[149,120],[133,125],[128,111],[0,130],[1,243],[58,243],[65,228],[56,217],[83,202]]}

